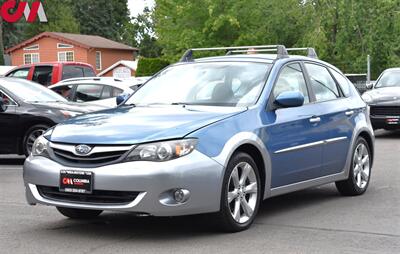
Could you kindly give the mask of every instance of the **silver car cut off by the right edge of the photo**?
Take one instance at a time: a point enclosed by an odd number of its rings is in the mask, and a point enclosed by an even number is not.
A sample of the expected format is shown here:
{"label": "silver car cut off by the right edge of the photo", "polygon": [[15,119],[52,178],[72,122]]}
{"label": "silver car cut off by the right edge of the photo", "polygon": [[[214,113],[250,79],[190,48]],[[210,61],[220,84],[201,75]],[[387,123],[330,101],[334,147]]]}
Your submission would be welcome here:
{"label": "silver car cut off by the right edge of the photo", "polygon": [[362,97],[370,106],[374,129],[400,129],[400,68],[385,70]]}

